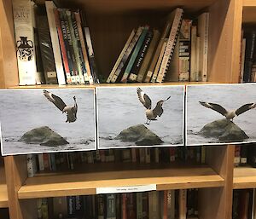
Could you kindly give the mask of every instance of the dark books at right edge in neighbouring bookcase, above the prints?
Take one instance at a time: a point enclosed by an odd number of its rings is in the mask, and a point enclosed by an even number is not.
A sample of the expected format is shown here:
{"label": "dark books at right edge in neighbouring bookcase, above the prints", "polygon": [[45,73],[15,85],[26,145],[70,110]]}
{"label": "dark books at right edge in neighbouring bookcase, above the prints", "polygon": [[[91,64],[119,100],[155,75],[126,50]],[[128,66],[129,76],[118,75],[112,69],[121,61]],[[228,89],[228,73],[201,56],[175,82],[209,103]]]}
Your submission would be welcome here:
{"label": "dark books at right edge in neighbouring bookcase, above the prints", "polygon": [[256,82],[256,26],[247,25],[241,31],[240,82]]}

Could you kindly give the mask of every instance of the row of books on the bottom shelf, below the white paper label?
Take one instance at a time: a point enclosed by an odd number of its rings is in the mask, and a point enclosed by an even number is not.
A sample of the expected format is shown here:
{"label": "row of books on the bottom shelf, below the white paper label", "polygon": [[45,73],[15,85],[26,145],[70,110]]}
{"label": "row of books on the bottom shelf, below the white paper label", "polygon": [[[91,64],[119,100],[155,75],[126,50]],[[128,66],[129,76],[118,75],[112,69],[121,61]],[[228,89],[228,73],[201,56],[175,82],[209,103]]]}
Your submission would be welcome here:
{"label": "row of books on the bottom shelf, below the white paper label", "polygon": [[195,219],[198,189],[38,199],[38,219]]}

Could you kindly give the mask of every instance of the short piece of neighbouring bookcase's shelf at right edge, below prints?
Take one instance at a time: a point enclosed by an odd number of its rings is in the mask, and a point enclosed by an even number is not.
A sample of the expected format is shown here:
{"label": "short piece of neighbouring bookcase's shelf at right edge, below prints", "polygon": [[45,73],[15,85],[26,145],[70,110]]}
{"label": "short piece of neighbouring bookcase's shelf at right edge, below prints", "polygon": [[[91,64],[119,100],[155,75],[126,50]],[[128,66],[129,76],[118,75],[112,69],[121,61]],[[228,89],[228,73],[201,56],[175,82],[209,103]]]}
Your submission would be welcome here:
{"label": "short piece of neighbouring bookcase's shelf at right edge, below prints", "polygon": [[256,169],[253,167],[237,167],[234,169],[233,188],[256,187]]}

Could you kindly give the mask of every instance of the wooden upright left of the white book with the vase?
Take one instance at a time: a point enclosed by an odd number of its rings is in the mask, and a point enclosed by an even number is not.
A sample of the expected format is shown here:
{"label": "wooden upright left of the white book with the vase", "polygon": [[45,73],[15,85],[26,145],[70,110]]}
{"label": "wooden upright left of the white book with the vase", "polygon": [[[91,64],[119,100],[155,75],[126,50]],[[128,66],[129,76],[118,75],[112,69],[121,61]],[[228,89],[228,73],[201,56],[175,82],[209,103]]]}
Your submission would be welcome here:
{"label": "wooden upright left of the white book with the vase", "polygon": [[0,54],[3,58],[0,61],[0,88],[5,88],[19,84],[11,0],[0,0],[0,14]]}

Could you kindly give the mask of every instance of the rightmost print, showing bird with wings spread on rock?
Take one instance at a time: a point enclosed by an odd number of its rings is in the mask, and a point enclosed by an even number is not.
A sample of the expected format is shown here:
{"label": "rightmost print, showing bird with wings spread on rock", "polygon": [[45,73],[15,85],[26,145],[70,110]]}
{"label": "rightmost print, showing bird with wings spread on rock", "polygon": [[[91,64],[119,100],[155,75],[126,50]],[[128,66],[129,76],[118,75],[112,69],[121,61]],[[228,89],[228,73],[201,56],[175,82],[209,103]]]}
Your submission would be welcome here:
{"label": "rightmost print, showing bird with wings spread on rock", "polygon": [[256,141],[256,84],[187,86],[187,145]]}

